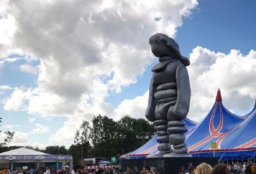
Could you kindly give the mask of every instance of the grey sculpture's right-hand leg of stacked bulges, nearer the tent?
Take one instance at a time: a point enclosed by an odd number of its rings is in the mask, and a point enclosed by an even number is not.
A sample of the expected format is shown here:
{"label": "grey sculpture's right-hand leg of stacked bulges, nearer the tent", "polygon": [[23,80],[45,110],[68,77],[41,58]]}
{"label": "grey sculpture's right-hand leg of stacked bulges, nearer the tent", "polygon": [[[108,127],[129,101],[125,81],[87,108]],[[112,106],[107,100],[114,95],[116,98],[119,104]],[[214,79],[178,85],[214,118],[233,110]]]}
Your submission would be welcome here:
{"label": "grey sculpture's right-hand leg of stacked bulges, nearer the tent", "polygon": [[[173,120],[176,117],[172,116],[174,106],[171,106],[168,110],[168,132],[169,132],[169,142],[173,145],[174,153],[165,155],[164,157],[184,157],[187,155],[187,146],[185,143],[186,136],[184,135],[187,132],[187,127],[185,122],[181,120]],[[190,156],[190,155],[189,155]]]}

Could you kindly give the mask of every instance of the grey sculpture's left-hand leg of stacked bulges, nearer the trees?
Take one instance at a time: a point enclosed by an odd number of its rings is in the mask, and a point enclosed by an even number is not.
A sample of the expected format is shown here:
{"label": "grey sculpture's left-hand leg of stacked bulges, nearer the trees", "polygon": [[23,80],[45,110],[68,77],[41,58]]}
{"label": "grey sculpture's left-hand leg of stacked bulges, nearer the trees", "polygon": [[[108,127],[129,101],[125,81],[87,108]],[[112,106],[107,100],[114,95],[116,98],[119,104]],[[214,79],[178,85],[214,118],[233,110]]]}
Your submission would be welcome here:
{"label": "grey sculpture's left-hand leg of stacked bulges, nearer the trees", "polygon": [[169,133],[167,131],[167,120],[155,120],[153,125],[155,126],[156,134],[159,136],[156,141],[159,142],[157,149],[159,154],[151,154],[147,158],[161,158],[166,153],[172,152],[170,149]]}

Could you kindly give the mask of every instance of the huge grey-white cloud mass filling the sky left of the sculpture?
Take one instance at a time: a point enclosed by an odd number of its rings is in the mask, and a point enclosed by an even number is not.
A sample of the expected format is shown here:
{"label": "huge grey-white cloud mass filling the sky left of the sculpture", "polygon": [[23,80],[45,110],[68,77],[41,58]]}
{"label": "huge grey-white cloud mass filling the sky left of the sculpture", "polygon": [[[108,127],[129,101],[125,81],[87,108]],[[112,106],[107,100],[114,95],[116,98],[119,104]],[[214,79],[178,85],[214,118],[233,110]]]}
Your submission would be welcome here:
{"label": "huge grey-white cloud mass filling the sky left of the sculpture", "polygon": [[[153,60],[149,37],[156,32],[174,36],[182,16],[190,15],[197,4],[194,0],[10,1],[6,11],[17,28],[11,48],[39,58],[40,65],[38,87],[14,90],[4,108],[66,116],[64,127],[69,129],[74,120],[115,115],[105,102],[109,91],[120,92],[122,86],[136,83]],[[13,49],[5,45],[0,55]],[[75,128],[68,135],[62,130],[51,140],[74,138]]]}

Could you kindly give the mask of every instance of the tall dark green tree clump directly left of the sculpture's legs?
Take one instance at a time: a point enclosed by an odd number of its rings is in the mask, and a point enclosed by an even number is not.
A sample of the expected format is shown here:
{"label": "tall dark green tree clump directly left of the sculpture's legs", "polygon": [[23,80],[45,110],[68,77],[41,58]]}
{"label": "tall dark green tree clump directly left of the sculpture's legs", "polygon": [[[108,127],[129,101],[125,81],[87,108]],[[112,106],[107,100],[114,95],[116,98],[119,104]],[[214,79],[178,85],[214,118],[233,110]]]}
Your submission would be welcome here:
{"label": "tall dark green tree clump directly left of the sculpture's legs", "polygon": [[73,157],[82,157],[83,150],[83,157],[110,159],[117,154],[135,150],[154,134],[153,125],[144,119],[133,119],[126,115],[114,121],[107,116],[97,115],[93,117],[92,127],[88,121],[82,122],[68,153]]}

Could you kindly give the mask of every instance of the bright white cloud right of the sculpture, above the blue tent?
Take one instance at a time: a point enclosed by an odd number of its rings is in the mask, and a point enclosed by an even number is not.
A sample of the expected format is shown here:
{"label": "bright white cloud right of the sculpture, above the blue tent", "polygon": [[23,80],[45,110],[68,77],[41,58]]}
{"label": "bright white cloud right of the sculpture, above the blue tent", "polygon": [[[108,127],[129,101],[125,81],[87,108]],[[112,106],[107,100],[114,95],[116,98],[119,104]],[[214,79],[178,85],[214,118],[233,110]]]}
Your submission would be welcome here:
{"label": "bright white cloud right of the sculpture, above the blue tent", "polygon": [[208,114],[218,88],[225,107],[249,111],[256,97],[256,51],[242,55],[233,49],[223,54],[196,47],[190,59],[191,119],[199,121]]}

